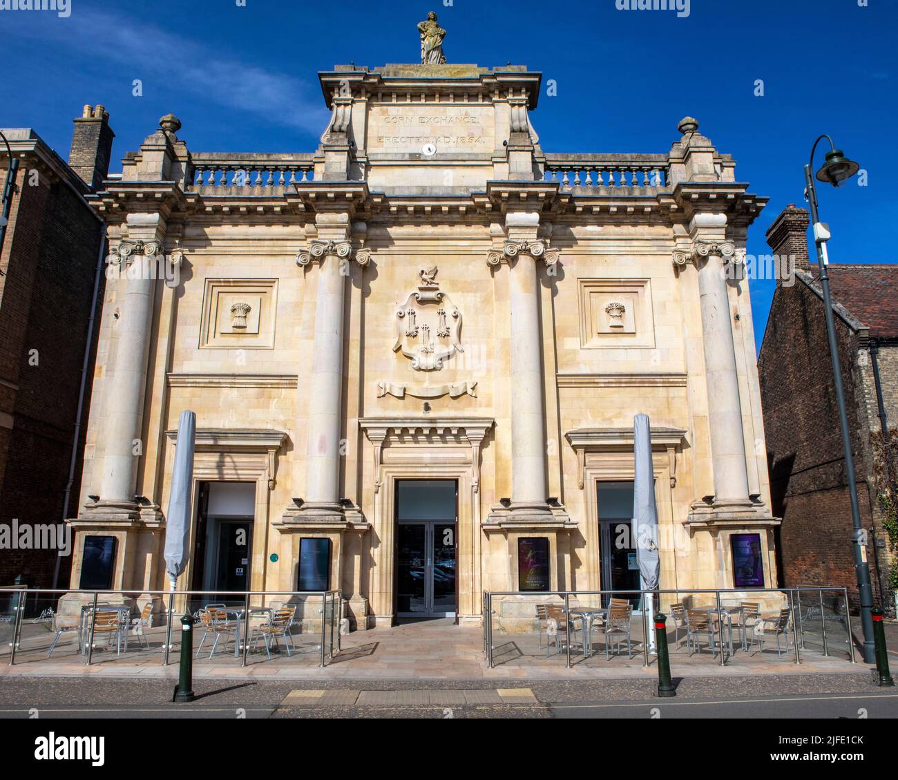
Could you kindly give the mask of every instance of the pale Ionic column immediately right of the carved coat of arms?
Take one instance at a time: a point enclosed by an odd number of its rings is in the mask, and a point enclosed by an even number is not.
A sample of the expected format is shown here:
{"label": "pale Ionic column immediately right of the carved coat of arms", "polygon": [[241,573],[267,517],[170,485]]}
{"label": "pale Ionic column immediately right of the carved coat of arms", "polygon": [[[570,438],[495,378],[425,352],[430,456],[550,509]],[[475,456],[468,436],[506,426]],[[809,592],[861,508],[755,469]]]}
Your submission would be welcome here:
{"label": "pale Ionic column immediately right of the carved coat of arms", "polygon": [[506,241],[502,253],[490,253],[492,265],[507,263],[511,306],[510,360],[512,437],[512,515],[551,517],[546,503],[546,438],[543,403],[537,261],[553,265],[558,251],[544,241]]}

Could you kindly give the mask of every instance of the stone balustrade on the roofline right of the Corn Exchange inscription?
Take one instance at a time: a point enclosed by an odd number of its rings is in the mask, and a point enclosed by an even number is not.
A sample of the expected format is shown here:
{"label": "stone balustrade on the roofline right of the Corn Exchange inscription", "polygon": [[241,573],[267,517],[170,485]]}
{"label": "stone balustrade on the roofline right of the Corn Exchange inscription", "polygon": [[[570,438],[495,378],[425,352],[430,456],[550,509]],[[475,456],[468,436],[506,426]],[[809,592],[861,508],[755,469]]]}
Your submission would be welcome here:
{"label": "stone balustrade on the roofline right of the Corn Exchange inscription", "polygon": [[545,179],[594,189],[667,186],[667,155],[546,155]]}

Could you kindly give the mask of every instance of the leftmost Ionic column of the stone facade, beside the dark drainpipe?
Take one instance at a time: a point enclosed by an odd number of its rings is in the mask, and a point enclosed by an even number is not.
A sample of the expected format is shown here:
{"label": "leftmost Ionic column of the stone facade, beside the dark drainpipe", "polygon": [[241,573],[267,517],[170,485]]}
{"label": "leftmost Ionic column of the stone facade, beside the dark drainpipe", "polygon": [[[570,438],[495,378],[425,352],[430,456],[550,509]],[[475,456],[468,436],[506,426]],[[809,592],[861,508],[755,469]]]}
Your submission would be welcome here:
{"label": "leftmost Ionic column of the stone facade, beside the dark drainpipe", "polygon": [[[158,215],[147,215],[136,222],[128,217],[132,237],[122,240],[110,254],[110,261],[118,265],[124,280],[125,296],[115,326],[118,331],[115,368],[104,394],[105,423],[101,429],[104,456],[98,510],[136,509],[134,495],[137,462],[142,452],[139,442],[158,277],[156,264],[163,261],[161,241],[156,234],[158,221]],[[146,231],[147,238],[135,237],[143,232],[135,229],[136,226],[150,228]]]}

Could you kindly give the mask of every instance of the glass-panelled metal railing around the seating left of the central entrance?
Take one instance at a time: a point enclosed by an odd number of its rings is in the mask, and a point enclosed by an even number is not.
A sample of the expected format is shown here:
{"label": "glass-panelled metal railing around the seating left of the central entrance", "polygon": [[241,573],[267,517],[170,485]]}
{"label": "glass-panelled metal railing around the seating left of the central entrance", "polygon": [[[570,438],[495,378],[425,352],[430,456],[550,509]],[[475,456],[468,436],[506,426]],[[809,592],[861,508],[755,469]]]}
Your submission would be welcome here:
{"label": "glass-panelled metal railing around the seating left of the central entrance", "polygon": [[22,593],[0,589],[0,658],[35,671],[73,662],[177,664],[184,616],[199,670],[260,663],[317,667],[339,652],[336,591]]}

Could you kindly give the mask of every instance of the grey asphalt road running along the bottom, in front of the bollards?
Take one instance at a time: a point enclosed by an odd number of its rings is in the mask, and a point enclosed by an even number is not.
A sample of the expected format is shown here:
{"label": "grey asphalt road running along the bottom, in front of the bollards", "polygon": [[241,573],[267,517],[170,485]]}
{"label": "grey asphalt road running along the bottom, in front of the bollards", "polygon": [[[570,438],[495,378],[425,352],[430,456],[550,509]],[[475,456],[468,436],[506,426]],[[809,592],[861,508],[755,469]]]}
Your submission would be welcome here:
{"label": "grey asphalt road running along the bottom, in front of the bollards", "polygon": [[[645,679],[341,680],[329,683],[197,680],[197,699],[172,704],[172,683],[114,678],[4,678],[0,718],[898,718],[898,688],[879,688],[869,673],[677,680],[673,699],[655,696]],[[466,690],[527,687],[533,704],[297,705],[297,688],[333,690]]]}

